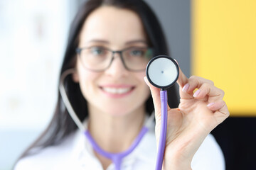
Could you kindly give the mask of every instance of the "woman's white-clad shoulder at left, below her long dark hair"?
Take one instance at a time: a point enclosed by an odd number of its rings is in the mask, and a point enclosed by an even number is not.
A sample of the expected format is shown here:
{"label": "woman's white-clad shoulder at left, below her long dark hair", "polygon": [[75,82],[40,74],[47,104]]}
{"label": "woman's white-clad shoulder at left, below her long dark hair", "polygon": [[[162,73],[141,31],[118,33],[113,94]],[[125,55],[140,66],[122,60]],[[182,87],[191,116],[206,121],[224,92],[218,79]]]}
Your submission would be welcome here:
{"label": "woman's white-clad shoulder at left, below her long dark hair", "polygon": [[63,140],[59,145],[38,149],[35,154],[28,155],[18,160],[14,170],[29,169],[58,169],[65,160],[68,160],[70,152],[73,149],[76,133]]}

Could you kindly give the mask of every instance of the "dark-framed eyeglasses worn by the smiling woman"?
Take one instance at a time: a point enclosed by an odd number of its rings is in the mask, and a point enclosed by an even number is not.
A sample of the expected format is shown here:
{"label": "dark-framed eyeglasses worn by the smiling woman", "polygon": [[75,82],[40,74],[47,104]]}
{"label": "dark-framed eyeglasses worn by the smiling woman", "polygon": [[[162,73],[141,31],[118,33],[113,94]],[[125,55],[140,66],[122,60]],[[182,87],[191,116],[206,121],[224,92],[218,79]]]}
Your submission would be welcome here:
{"label": "dark-framed eyeglasses worn by the smiling woman", "polygon": [[114,53],[119,54],[124,67],[132,72],[144,71],[152,57],[152,50],[149,47],[129,47],[124,50],[112,51],[105,47],[92,46],[78,47],[76,52],[85,69],[94,72],[102,72],[109,68],[114,60]]}

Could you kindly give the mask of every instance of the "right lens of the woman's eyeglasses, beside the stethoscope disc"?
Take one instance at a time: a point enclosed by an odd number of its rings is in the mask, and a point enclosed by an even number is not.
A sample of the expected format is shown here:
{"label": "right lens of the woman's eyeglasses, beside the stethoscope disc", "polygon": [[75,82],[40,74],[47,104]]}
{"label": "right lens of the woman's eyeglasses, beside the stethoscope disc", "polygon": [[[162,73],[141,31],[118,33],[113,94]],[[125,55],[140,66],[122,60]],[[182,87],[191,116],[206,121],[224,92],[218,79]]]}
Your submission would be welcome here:
{"label": "right lens of the woman's eyeglasses, beside the stethoscope disc", "polygon": [[128,69],[140,71],[146,69],[146,64],[152,57],[149,48],[131,47],[123,51],[124,63]]}

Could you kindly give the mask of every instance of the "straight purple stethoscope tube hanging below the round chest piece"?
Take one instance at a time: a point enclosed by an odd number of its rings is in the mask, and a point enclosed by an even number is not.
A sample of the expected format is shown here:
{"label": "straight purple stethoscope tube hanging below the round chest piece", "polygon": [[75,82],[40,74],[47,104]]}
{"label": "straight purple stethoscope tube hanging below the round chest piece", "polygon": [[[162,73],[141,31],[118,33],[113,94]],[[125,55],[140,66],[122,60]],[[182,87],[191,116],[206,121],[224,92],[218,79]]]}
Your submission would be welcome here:
{"label": "straight purple stethoscope tube hanging below the round chest piece", "polygon": [[156,157],[156,170],[161,170],[164,159],[164,149],[166,145],[166,129],[167,129],[167,91],[160,91],[161,98],[161,130],[159,137],[159,150]]}

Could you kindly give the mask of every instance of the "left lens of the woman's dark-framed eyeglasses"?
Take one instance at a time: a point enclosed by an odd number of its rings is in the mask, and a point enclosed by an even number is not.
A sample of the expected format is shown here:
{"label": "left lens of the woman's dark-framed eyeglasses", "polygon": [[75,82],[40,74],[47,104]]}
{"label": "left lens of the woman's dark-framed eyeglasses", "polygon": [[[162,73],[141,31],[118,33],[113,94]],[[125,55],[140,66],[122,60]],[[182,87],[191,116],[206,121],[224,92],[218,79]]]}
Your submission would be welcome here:
{"label": "left lens of the woman's dark-framed eyeglasses", "polygon": [[88,47],[80,52],[82,64],[87,69],[100,71],[106,69],[111,61],[112,53],[104,47]]}

